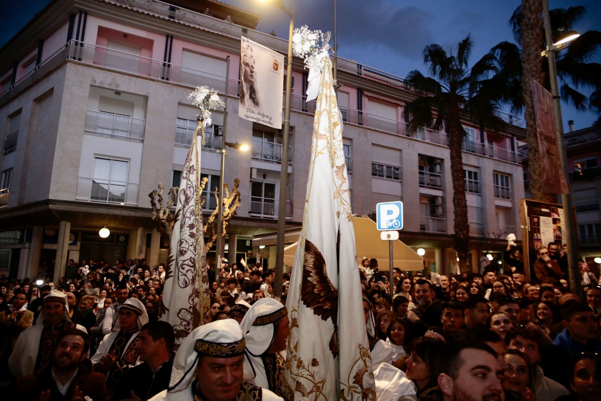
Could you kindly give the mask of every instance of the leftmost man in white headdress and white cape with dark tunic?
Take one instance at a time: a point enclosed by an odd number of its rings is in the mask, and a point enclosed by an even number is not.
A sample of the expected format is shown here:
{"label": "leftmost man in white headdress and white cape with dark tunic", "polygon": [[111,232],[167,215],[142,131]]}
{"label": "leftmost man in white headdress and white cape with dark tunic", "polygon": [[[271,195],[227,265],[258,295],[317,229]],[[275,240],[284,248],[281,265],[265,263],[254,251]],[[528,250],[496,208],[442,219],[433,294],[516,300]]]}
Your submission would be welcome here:
{"label": "leftmost man in white headdress and white cape with dark tunic", "polygon": [[69,319],[67,296],[51,290],[42,301],[41,313],[35,325],[23,331],[8,358],[10,372],[17,378],[33,375],[44,369],[54,357],[58,338],[75,325]]}

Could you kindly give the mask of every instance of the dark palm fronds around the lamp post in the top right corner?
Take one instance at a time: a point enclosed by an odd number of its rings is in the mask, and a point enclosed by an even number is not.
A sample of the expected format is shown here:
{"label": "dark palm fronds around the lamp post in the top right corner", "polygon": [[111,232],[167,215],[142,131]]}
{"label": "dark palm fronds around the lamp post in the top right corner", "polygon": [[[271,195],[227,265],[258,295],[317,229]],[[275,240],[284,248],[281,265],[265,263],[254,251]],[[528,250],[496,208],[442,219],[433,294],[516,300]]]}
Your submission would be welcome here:
{"label": "dark palm fronds around the lamp post in the top right corner", "polygon": [[[507,84],[503,93],[503,101],[511,106],[512,112],[523,111],[525,105],[522,92],[523,62],[520,60],[525,54],[522,49],[525,49],[526,43],[528,43],[528,47],[538,51],[542,51],[546,46],[545,35],[542,32],[542,16],[537,11],[538,7],[536,9],[531,8],[534,7],[531,3],[540,3],[540,0],[523,0],[523,5],[526,8],[523,8],[523,6],[517,7],[509,19],[514,38],[522,44],[522,47],[520,48],[510,41],[502,41],[491,50],[499,60],[498,79]],[[534,15],[534,13],[538,14]],[[554,37],[557,37],[561,31],[573,30],[585,13],[586,8],[581,5],[567,9],[556,8],[551,10],[551,28]],[[526,43],[523,41],[524,34],[532,35],[530,31],[533,29],[533,18],[540,19],[540,25],[537,24],[537,26],[540,26],[538,29],[541,29],[541,33],[536,35],[539,44],[534,43],[531,36],[526,38]],[[597,113],[601,111],[599,107],[601,106],[599,104],[601,97],[601,64],[591,62],[599,49],[601,49],[601,32],[587,31],[571,41],[566,49],[555,55],[561,86],[561,99],[566,104],[575,106],[578,111],[586,111],[587,109]],[[529,60],[528,64],[532,62],[534,62],[534,59]],[[538,63],[541,63],[540,66],[543,71],[539,83],[549,90],[551,85],[549,84],[548,63],[544,57],[539,57]],[[593,90],[593,93],[590,97],[587,97],[582,93],[582,90]],[[601,118],[597,120],[597,124],[601,124]]]}

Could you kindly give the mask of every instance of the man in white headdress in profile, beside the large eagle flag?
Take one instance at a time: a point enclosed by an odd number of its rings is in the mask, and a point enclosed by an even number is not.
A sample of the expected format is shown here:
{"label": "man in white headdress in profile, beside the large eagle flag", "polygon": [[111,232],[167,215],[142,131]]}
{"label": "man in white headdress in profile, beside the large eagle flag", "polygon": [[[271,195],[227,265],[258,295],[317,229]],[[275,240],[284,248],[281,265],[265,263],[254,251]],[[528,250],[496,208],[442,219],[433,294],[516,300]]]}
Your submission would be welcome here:
{"label": "man in white headdress in profile, beside the large eagle flag", "polygon": [[284,378],[285,356],[280,353],[286,349],[289,323],[286,307],[273,298],[255,302],[240,323],[246,333],[244,379],[285,400],[292,399],[292,391]]}

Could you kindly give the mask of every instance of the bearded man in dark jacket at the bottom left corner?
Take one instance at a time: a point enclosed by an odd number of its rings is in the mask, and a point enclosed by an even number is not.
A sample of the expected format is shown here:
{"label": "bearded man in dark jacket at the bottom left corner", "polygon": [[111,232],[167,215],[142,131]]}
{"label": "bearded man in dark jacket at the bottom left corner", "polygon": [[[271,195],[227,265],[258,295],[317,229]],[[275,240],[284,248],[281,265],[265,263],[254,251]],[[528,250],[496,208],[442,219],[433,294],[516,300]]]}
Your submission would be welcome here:
{"label": "bearded man in dark jacket at the bottom left corner", "polygon": [[20,400],[106,401],[105,376],[90,369],[87,360],[90,337],[78,329],[69,329],[59,337],[52,363],[37,375],[17,381]]}

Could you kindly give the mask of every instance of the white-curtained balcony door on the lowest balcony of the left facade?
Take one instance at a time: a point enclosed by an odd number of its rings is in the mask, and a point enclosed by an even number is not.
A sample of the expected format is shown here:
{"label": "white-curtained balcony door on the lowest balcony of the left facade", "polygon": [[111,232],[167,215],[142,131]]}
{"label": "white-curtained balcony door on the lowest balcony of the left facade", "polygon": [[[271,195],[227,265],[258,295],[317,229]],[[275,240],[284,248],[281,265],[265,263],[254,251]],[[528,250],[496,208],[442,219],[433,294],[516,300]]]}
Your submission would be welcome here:
{"label": "white-curtained balcony door on the lowest balcony of the left facade", "polygon": [[124,204],[127,195],[129,162],[94,158],[91,200]]}

